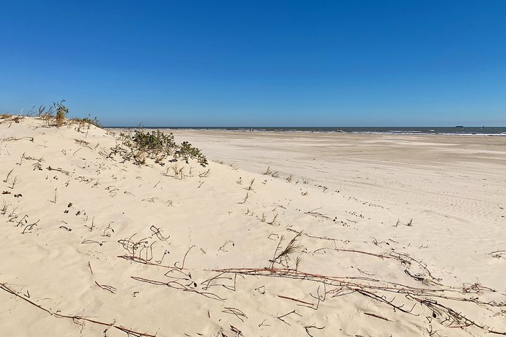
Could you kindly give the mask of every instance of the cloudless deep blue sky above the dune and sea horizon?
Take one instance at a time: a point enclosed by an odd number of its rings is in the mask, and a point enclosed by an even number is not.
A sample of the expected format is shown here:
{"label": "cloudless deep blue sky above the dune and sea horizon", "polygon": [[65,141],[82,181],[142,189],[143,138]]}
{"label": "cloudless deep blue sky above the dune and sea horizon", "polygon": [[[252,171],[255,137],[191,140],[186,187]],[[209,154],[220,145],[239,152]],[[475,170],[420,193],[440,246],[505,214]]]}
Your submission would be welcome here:
{"label": "cloudless deep blue sky above the dune and sea horizon", "polygon": [[506,126],[506,1],[0,2],[0,112]]}

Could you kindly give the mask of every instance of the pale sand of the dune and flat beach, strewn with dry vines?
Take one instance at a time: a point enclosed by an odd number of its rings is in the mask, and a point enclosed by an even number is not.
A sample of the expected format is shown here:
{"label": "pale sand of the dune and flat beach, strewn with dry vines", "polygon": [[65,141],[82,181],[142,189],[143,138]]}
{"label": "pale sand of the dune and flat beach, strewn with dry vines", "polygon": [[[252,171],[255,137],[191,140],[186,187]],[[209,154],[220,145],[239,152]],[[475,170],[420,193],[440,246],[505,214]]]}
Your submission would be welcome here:
{"label": "pale sand of the dune and flat beach, strewn with dry vines", "polygon": [[0,336],[506,334],[505,138],[114,132],[0,120]]}

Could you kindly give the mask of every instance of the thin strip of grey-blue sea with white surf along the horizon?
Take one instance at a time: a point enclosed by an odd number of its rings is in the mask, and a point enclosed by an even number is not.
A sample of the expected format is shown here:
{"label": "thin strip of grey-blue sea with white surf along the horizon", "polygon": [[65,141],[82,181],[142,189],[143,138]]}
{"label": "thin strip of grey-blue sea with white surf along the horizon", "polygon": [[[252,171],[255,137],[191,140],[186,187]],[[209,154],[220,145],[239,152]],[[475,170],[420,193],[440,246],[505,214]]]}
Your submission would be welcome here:
{"label": "thin strip of grey-blue sea with white surf along the horizon", "polygon": [[[125,129],[123,127],[123,129]],[[506,136],[506,127],[144,127],[144,129],[195,129],[237,132],[308,132],[348,134],[441,134]]]}

